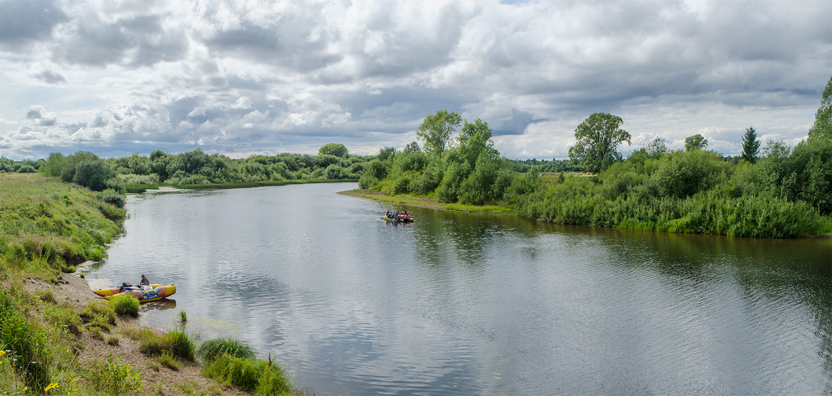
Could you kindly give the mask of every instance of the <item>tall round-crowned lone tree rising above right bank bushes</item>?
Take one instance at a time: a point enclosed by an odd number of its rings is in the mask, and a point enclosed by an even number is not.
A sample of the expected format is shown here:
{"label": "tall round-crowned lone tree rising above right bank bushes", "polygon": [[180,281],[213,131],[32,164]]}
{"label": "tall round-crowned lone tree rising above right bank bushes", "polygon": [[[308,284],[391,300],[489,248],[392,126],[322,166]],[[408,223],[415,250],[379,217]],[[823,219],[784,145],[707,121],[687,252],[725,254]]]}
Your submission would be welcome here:
{"label": "tall round-crowned lone tree rising above right bank bushes", "polygon": [[620,126],[620,116],[594,113],[575,128],[577,144],[569,148],[569,158],[578,161],[587,171],[593,173],[607,169],[612,163],[622,160],[618,145],[630,144],[630,133]]}

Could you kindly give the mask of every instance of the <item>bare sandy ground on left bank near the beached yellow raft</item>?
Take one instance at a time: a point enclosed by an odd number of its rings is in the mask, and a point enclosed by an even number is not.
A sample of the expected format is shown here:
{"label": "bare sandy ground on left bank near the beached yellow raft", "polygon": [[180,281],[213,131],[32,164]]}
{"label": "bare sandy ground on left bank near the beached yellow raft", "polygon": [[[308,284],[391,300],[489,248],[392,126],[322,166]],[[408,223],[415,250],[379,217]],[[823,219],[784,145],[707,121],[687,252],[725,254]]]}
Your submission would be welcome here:
{"label": "bare sandy ground on left bank near the beached yellow raft", "polygon": [[[77,274],[80,274],[80,272],[77,272]],[[62,275],[54,285],[42,280],[29,279],[26,280],[25,288],[29,292],[52,289],[52,293],[55,295],[58,304],[66,301],[73,308],[77,309],[78,312],[81,312],[89,302],[100,299],[100,297],[92,293],[92,289],[87,284],[87,280],[74,274]],[[119,340],[117,345],[110,345],[106,341],[96,339],[90,332],[82,332],[83,349],[77,355],[78,363],[86,366],[87,363],[93,360],[106,361],[107,354],[121,356],[122,364],[129,363],[133,367],[141,370],[141,375],[145,377],[144,387],[141,393],[146,394],[159,394],[157,389],[161,390],[161,394],[186,394],[185,389],[193,389],[196,391],[196,394],[201,394],[202,392],[216,394],[216,391],[219,390],[221,394],[225,395],[249,395],[240,389],[222,386],[214,379],[206,379],[200,374],[202,367],[199,364],[180,362],[179,370],[175,371],[159,365],[158,359],[141,354],[139,352],[139,343],[119,332],[121,329],[139,326],[138,319],[119,318],[111,332],[104,335],[105,339],[116,337]],[[153,331],[159,330],[153,329]],[[147,365],[148,362],[158,365],[159,371],[151,369]],[[187,394],[191,393],[189,392]]]}

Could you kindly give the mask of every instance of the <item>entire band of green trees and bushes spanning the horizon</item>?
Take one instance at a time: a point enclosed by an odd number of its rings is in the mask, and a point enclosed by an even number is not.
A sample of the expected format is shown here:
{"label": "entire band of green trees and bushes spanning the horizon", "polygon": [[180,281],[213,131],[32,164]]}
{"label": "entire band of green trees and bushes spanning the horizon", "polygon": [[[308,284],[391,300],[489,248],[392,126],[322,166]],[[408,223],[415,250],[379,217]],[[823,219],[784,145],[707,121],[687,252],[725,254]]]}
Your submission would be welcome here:
{"label": "entire band of green trees and bushes spanning the horizon", "polygon": [[[349,155],[344,145],[317,156],[279,154],[231,159],[201,149],[171,155],[101,159],[89,151],[47,160],[0,158],[0,171],[39,171],[94,191],[126,184],[208,184],[289,179],[358,179],[389,195],[439,202],[502,205],[529,219],[737,236],[786,237],[832,232],[832,78],[815,124],[795,147],[768,141],[760,152],[754,126],[740,156],[707,150],[699,134],[671,151],[656,137],[623,158],[630,143],[621,117],[594,113],[575,129],[569,160],[509,160],[494,149],[488,123],[441,110],[425,117],[418,141],[384,147],[376,156]],[[568,175],[565,172],[570,172]],[[594,176],[575,176],[587,171]],[[542,172],[560,172],[556,178]],[[106,196],[106,194],[105,194]],[[111,198],[115,200],[116,198]]]}

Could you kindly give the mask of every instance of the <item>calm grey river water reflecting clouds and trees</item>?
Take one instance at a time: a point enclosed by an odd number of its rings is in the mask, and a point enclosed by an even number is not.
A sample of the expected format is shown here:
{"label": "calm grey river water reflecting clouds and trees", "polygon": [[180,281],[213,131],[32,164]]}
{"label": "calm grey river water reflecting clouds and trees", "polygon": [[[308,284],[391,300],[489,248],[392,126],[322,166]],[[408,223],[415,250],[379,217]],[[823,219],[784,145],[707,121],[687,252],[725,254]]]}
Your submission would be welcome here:
{"label": "calm grey river water reflecting clouds and trees", "polygon": [[539,224],[335,194],[143,194],[92,286],[185,310],[330,395],[832,393],[832,240]]}

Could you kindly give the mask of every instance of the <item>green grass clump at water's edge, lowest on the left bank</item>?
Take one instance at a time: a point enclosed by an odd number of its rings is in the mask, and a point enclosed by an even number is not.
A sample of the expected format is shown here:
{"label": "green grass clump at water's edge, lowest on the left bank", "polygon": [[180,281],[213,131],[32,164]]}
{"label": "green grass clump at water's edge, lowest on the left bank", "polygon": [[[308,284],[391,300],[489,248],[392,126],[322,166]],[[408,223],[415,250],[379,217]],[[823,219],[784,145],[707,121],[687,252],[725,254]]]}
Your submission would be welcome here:
{"label": "green grass clump at water's edge, lowest on the left bank", "polygon": [[220,384],[236,385],[255,395],[291,394],[294,390],[286,370],[266,360],[222,354],[206,365],[202,373]]}

